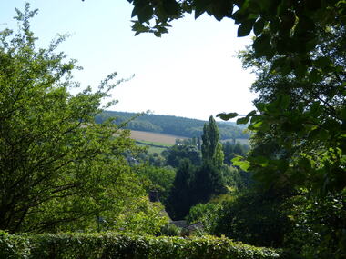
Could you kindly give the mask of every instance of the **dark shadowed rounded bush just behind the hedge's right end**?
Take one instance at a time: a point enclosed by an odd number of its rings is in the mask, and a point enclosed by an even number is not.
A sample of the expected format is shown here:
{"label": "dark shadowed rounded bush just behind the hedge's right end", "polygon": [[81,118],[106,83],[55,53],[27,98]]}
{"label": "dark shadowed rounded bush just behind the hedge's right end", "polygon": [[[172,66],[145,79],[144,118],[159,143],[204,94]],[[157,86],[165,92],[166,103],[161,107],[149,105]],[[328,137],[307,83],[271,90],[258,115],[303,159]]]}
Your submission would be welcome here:
{"label": "dark shadowed rounded bush just behind the hedge's right end", "polygon": [[285,198],[273,190],[242,192],[219,206],[215,215],[209,216],[214,218],[210,232],[247,244],[282,247],[291,228],[290,210]]}

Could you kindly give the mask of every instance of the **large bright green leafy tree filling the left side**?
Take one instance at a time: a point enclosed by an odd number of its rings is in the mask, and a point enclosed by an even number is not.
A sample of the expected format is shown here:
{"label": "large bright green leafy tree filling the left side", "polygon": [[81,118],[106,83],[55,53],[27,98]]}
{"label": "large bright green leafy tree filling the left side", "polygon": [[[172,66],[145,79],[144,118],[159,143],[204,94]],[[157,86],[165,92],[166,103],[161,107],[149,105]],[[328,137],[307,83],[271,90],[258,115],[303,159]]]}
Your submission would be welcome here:
{"label": "large bright green leafy tree filling the left side", "polygon": [[16,10],[18,33],[0,32],[0,229],[10,233],[95,222],[115,211],[112,200],[142,192],[127,178],[128,132],[94,123],[116,74],[95,93],[69,94],[76,62],[55,53],[64,37],[36,49],[29,24],[36,13],[26,4]]}

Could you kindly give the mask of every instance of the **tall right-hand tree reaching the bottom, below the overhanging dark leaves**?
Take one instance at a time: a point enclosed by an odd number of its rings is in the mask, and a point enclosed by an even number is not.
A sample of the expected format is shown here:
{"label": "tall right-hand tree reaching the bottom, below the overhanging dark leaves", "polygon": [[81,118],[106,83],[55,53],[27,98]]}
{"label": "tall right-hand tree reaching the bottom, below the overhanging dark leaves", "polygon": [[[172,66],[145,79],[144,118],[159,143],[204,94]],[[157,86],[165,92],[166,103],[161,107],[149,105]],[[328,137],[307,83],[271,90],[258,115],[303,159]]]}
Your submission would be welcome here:
{"label": "tall right-hand tree reaching the bottom, below the overhanging dark leaves", "polygon": [[346,30],[344,26],[319,29],[317,49],[308,55],[320,60],[320,66],[328,59],[331,67],[339,67],[331,68],[329,75],[285,75],[271,71],[270,62],[256,57],[251,49],[241,55],[245,66],[256,69],[258,79],[252,89],[260,94],[255,100],[259,112],[249,125],[254,131],[254,148],[248,165],[267,187],[290,187],[302,193],[298,197],[305,203],[299,198],[294,202],[296,211],[305,213],[295,216],[300,227],[293,233],[314,229],[314,234],[303,239],[296,234],[291,239],[300,243],[296,248],[301,254],[342,258],[346,254],[346,223],[339,218],[340,210],[345,209],[346,187]]}

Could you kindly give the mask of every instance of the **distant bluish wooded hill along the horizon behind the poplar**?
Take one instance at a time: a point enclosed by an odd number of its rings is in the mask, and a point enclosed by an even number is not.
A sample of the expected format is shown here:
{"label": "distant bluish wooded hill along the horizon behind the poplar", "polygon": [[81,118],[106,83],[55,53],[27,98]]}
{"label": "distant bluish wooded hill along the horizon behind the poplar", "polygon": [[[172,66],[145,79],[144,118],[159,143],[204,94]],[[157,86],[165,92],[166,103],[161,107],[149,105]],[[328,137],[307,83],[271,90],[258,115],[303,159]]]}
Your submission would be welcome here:
{"label": "distant bluish wooded hill along the horizon behind the poplar", "polygon": [[[97,115],[95,121],[102,123],[109,117],[115,117],[116,124],[122,124],[137,116],[135,113],[105,111]],[[141,115],[130,120],[126,128],[137,131],[146,131],[161,134],[174,134],[188,138],[198,137],[203,134],[203,125],[206,121],[188,119],[170,115]],[[243,129],[225,123],[218,123],[220,139],[248,139],[249,134],[243,133]]]}

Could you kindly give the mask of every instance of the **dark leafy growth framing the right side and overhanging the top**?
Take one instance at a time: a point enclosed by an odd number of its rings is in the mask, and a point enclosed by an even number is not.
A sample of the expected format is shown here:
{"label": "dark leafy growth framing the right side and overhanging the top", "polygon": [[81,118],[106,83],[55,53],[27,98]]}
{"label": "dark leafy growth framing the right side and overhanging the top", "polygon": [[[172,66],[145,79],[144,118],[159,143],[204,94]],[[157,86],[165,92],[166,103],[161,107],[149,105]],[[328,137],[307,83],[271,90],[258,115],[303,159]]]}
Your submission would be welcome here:
{"label": "dark leafy growth framing the right side and overhanging the top", "polygon": [[233,19],[239,36],[253,32],[252,45],[240,56],[257,74],[252,89],[260,97],[257,110],[238,119],[249,123],[253,149],[233,164],[252,172],[264,190],[288,190],[284,200],[293,205],[288,217],[301,256],[346,256],[346,224],[337,216],[345,210],[346,190],[345,1],[128,2],[137,34],[168,33],[169,22],[192,12],[196,18],[207,13]]}

